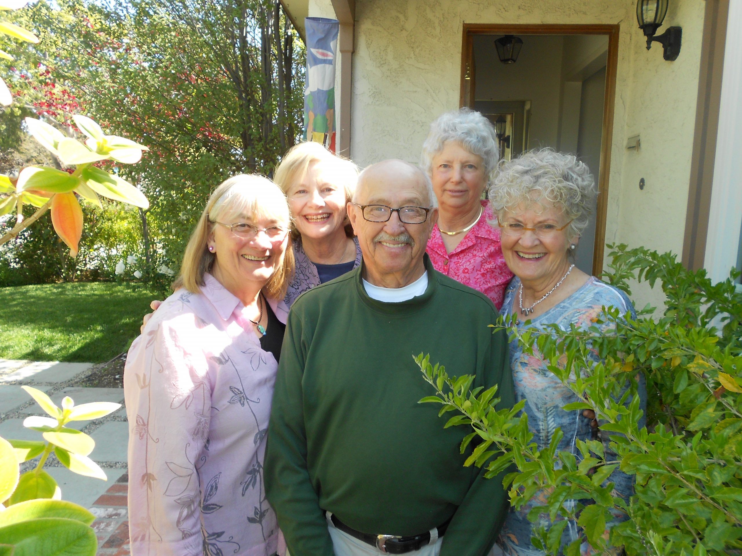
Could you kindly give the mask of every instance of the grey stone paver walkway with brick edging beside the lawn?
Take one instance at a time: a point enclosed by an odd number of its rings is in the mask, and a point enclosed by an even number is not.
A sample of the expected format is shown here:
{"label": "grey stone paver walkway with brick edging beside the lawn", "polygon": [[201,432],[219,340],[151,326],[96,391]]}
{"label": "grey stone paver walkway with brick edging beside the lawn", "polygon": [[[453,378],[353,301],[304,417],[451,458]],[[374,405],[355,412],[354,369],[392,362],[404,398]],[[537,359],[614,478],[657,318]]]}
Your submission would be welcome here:
{"label": "grey stone paver walkway with brick edging beside the lawn", "polygon": [[[58,406],[65,396],[75,404],[88,402],[124,403],[122,388],[83,388],[78,384],[96,371],[91,363],[58,363],[0,359],[0,436],[13,440],[41,440],[40,434],[23,426],[29,415],[45,415],[38,404],[22,390],[30,385],[46,392]],[[45,471],[62,489],[62,498],[90,509],[96,516],[93,529],[98,537],[99,556],[129,556],[126,493],[126,447],[128,423],[122,407],[92,421],[76,421],[68,426],[90,434],[96,447],[90,457],[108,480],[83,477],[62,466],[54,454]],[[38,460],[22,464],[21,471],[33,469]]]}

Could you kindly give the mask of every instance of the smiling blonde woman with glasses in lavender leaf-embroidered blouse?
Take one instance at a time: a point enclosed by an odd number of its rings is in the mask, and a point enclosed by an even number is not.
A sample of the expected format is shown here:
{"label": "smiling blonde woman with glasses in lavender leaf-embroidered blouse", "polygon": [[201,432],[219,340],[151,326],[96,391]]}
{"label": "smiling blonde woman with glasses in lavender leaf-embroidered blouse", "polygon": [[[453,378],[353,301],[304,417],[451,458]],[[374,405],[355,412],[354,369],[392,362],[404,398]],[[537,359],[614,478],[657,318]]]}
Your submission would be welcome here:
{"label": "smiling blonde woman with glasses in lavender leaf-embroidered blouse", "polygon": [[[175,292],[128,352],[131,554],[274,554],[263,457],[294,254],[262,176],[211,194]],[[134,478],[135,477],[135,478]]]}

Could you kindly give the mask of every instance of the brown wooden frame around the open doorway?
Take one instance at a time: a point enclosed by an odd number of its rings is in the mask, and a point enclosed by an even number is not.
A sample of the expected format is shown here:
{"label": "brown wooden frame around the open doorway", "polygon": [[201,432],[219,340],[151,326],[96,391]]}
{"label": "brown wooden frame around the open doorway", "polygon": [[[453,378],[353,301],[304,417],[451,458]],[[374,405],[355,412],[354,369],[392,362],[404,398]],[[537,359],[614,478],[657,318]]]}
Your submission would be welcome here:
{"label": "brown wooden frame around the open doorway", "polygon": [[[608,180],[611,175],[611,144],[613,116],[616,101],[616,74],[618,68],[619,25],[559,25],[559,24],[483,24],[464,23],[462,36],[461,85],[459,106],[466,106],[464,76],[467,63],[473,64],[473,39],[475,35],[605,35],[608,36],[608,60],[605,64],[605,99],[603,101],[603,136],[600,144],[600,176],[598,176],[597,210],[595,211],[595,240],[593,249],[593,274],[603,274],[605,253],[605,223],[608,217]],[[474,96],[471,87],[470,97]]]}

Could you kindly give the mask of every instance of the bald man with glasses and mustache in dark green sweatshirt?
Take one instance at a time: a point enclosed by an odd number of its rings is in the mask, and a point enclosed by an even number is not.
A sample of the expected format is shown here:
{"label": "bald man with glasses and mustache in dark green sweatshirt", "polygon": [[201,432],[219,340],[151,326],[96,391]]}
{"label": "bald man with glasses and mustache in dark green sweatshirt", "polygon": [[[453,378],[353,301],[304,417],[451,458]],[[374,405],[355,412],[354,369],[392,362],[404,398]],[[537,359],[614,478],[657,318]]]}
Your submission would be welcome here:
{"label": "bald man with glasses and mustache in dark green sweatshirt", "polygon": [[289,314],[265,484],[291,556],[485,556],[505,519],[502,477],[464,467],[464,431],[418,404],[420,352],[513,404],[494,305],[425,254],[437,212],[415,166],[367,168],[348,204],[363,264]]}

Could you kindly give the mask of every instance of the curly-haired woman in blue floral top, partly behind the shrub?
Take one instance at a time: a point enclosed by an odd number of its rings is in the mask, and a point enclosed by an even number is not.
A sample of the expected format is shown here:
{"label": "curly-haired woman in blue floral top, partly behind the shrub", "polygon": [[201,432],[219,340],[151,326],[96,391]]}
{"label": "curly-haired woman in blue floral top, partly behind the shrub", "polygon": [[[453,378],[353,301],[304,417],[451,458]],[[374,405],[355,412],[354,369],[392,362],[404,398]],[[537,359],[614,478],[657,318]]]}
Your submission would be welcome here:
{"label": "curly-haired woman in blue floral top, partly behind the shrub", "polygon": [[[566,330],[571,325],[588,328],[594,325],[604,305],[634,315],[634,307],[623,291],[588,276],[572,262],[571,254],[588,225],[596,195],[588,167],[572,155],[551,149],[535,150],[501,166],[490,188],[490,202],[498,218],[496,225],[502,231],[502,253],[515,277],[505,291],[500,312],[505,316],[516,314],[519,328],[553,324]],[[525,325],[525,321],[530,322]],[[523,411],[528,414],[538,449],[548,447],[559,427],[564,433],[559,450],[571,451],[580,460],[577,440],[594,437],[594,416],[591,412],[562,409],[578,401],[577,396],[548,371],[535,348],[533,355],[525,354],[517,341],[511,342],[510,366],[516,401],[525,400]],[[644,409],[646,391],[641,377],[639,385]],[[611,453],[608,440],[603,442],[605,451]],[[608,482],[614,483],[614,494],[625,500],[633,494],[632,477],[619,469],[608,477]],[[534,506],[545,505],[548,496],[548,492],[537,492],[521,509],[510,511],[498,541],[506,555],[545,554],[531,544],[531,536],[538,526],[548,529],[548,514],[540,515],[536,523],[527,516]],[[606,535],[611,526],[623,519],[623,514],[616,514],[606,526]],[[562,547],[577,536],[577,528],[570,523],[562,535]],[[584,543],[582,555],[591,553],[591,546]]]}

